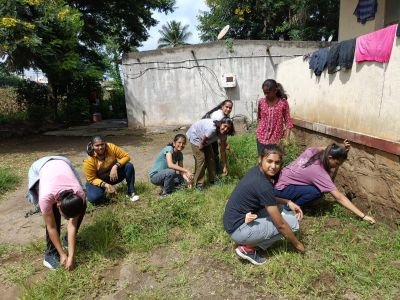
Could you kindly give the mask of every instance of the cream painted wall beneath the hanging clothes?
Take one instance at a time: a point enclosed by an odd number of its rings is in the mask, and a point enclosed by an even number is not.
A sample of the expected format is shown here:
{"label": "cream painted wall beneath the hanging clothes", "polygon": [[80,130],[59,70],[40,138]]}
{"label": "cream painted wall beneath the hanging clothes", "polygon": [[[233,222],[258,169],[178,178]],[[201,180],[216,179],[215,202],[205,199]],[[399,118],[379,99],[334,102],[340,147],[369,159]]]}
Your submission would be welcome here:
{"label": "cream painted wall beneath the hanging clothes", "polygon": [[292,116],[308,122],[400,141],[400,39],[388,64],[363,62],[316,77],[308,61],[279,65],[277,80],[290,95]]}

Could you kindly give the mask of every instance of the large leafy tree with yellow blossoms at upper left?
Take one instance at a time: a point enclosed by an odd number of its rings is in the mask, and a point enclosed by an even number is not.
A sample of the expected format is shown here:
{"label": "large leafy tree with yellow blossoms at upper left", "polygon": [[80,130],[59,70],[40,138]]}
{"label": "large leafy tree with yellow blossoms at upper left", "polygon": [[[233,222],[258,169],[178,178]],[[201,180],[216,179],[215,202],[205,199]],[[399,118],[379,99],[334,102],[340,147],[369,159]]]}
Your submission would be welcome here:
{"label": "large leafy tree with yellow blossoms at upper left", "polygon": [[[40,69],[57,118],[59,102],[76,87],[98,85],[108,39],[119,56],[148,36],[152,10],[172,11],[175,0],[0,0],[0,57],[10,71]],[[114,62],[116,59],[114,59]],[[83,84],[84,83],[84,84]],[[74,88],[72,88],[72,86]]]}

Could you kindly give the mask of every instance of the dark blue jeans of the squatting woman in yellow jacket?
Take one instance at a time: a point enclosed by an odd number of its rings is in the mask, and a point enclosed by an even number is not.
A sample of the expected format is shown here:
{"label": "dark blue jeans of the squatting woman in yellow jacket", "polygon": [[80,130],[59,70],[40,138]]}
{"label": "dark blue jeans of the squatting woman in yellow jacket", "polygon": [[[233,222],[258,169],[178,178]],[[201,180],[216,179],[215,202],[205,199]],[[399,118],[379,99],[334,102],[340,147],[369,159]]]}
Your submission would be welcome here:
{"label": "dark blue jeans of the squatting woman in yellow jacket", "polygon": [[[109,178],[109,177],[108,177]],[[126,185],[128,187],[128,195],[135,193],[135,168],[131,163],[126,163],[118,169],[117,181],[104,180],[108,184],[117,184],[122,180],[126,179]],[[87,199],[90,203],[99,203],[103,201],[105,189],[89,182],[86,182]]]}

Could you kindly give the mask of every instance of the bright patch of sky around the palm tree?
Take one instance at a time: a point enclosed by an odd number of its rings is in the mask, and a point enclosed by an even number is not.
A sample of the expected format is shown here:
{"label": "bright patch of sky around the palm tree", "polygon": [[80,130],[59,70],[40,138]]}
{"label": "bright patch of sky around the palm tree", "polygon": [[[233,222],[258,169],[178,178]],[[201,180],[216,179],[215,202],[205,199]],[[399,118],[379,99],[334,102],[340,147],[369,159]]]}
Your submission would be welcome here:
{"label": "bright patch of sky around the palm tree", "polygon": [[199,11],[208,11],[205,0],[176,0],[175,10],[172,14],[165,15],[155,12],[153,17],[158,21],[158,24],[155,27],[151,27],[149,31],[150,37],[142,43],[142,47],[138,48],[139,51],[157,49],[158,39],[160,38],[158,30],[161,29],[162,25],[172,20],[181,22],[182,26],[189,25],[188,31],[192,33],[192,36],[188,40],[189,44],[200,43],[199,32],[196,29],[196,26],[199,24],[197,20]]}

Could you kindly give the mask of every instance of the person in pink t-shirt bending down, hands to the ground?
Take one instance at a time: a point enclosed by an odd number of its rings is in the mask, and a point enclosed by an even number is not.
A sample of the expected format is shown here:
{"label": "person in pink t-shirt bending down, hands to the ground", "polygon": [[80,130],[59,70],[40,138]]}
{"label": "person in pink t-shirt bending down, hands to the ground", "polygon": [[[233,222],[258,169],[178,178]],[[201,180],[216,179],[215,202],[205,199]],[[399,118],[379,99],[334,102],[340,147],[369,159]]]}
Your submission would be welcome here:
{"label": "person in pink t-shirt bending down, hands to the ground", "polygon": [[[29,169],[28,200],[38,203],[46,224],[47,248],[43,265],[56,269],[59,265],[71,270],[74,265],[76,235],[86,212],[85,191],[78,173],[63,156],[46,156]],[[67,236],[61,240],[61,215],[68,220]]]}

